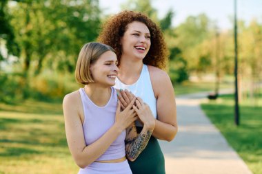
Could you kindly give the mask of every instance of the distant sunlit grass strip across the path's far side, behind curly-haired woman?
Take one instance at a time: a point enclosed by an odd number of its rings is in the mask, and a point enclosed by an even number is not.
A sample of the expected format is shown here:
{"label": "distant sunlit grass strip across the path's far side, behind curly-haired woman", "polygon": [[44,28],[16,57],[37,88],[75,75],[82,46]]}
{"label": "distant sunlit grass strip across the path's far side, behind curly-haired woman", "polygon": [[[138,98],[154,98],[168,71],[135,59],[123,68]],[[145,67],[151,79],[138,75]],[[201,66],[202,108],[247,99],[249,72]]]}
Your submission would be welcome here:
{"label": "distant sunlit grass strip across the path's far side, behind curly-haired woman", "polygon": [[[174,92],[176,96],[182,95],[182,94],[192,94],[197,92],[203,92],[203,91],[214,91],[214,83],[212,82],[190,82],[186,81],[182,84],[174,84]],[[221,83],[220,88],[233,88],[234,86],[230,83]]]}

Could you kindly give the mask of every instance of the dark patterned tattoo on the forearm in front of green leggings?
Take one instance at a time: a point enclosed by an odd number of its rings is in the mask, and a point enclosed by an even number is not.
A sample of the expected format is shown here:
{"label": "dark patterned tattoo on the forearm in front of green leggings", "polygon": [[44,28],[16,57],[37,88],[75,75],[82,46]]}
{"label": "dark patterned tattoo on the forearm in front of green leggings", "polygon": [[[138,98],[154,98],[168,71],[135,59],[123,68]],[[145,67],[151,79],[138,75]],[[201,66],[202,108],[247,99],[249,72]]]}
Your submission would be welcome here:
{"label": "dark patterned tattoo on the forearm in front of green leggings", "polygon": [[137,138],[128,138],[125,140],[125,146],[128,146],[125,152],[127,157],[135,160],[141,151],[145,149],[145,146],[148,144],[151,135],[152,131],[147,131],[146,133],[141,132]]}

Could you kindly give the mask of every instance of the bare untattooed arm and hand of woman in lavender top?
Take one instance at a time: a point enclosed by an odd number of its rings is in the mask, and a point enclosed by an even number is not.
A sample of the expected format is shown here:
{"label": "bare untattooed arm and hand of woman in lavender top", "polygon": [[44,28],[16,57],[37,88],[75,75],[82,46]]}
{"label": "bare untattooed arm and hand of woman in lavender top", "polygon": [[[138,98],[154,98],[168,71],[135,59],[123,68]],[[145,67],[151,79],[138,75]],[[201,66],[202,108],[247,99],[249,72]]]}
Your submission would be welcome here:
{"label": "bare untattooed arm and hand of woman in lavender top", "polygon": [[[134,102],[133,102],[134,103]],[[85,168],[94,160],[97,160],[117,139],[126,127],[128,127],[136,119],[133,109],[127,107],[126,110],[120,112],[120,103],[117,107],[116,122],[113,126],[101,136],[96,142],[86,146],[83,136],[83,128],[79,111],[81,108],[81,100],[78,92],[67,95],[63,99],[63,115],[65,119],[66,138],[70,152],[74,161],[81,168]],[[82,112],[82,113],[81,113]]]}

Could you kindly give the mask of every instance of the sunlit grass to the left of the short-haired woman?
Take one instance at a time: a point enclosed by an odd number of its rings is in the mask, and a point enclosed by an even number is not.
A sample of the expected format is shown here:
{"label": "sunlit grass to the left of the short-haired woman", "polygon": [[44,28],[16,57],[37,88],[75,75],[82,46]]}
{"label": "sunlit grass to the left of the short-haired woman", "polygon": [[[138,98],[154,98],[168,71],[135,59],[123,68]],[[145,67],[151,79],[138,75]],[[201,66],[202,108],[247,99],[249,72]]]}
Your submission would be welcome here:
{"label": "sunlit grass to the left of the short-haired woman", "polygon": [[0,103],[0,173],[77,173],[61,102]]}

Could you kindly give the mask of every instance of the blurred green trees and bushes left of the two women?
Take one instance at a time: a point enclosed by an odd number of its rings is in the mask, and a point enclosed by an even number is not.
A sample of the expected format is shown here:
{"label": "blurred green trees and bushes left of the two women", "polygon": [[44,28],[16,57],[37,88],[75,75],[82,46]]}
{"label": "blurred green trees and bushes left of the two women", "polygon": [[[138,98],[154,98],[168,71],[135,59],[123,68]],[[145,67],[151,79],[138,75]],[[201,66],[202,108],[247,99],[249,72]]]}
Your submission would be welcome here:
{"label": "blurred green trees and bushes left of the two women", "polygon": [[101,11],[97,0],[2,1],[0,22],[0,100],[61,98],[81,46],[99,34]]}

